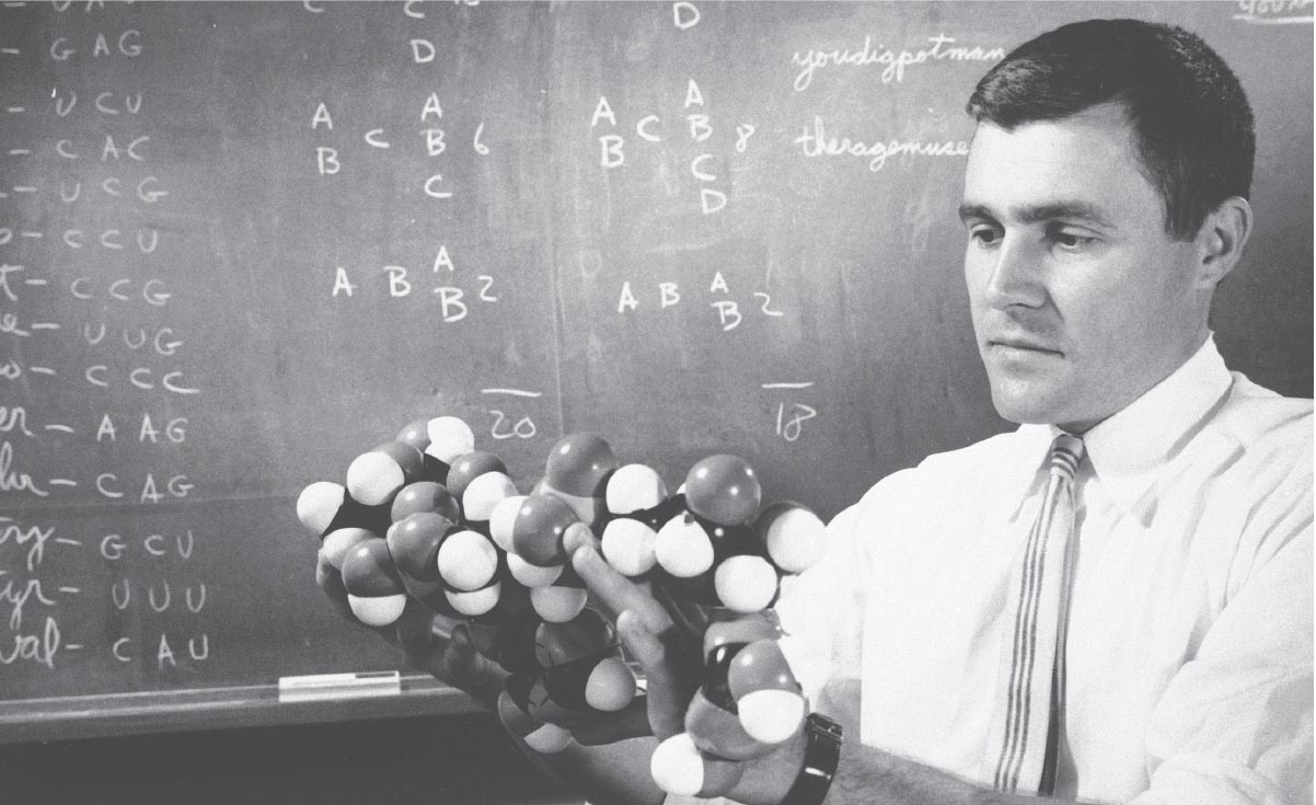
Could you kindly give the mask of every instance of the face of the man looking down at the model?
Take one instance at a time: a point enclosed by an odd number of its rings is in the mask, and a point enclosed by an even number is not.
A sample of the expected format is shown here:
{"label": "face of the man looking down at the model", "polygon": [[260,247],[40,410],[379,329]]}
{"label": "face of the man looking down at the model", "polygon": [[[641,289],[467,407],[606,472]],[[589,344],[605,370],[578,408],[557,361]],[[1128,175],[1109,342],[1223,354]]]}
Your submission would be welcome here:
{"label": "face of the man looking down at the model", "polygon": [[1005,419],[1082,432],[1205,337],[1196,246],[1166,233],[1113,104],[1012,132],[980,124],[961,219],[978,349]]}

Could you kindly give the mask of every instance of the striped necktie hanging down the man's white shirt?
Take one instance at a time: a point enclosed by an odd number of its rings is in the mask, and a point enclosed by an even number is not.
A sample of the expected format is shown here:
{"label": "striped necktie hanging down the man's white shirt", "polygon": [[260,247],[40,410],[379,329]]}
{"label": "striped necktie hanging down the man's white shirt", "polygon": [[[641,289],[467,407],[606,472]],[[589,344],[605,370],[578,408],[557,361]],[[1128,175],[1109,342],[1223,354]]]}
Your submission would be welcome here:
{"label": "striped necktie hanging down the man's white shirt", "polygon": [[1061,433],[1046,497],[1011,572],[1013,630],[1001,644],[986,769],[999,791],[1051,793],[1065,718],[1065,636],[1073,574],[1074,474],[1083,440]]}

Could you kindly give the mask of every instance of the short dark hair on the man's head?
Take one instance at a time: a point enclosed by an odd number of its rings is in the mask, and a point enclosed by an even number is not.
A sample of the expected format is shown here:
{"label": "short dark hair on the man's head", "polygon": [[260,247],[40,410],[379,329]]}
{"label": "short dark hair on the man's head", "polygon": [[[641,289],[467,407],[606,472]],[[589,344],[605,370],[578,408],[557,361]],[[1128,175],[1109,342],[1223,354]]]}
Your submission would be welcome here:
{"label": "short dark hair on the man's head", "polygon": [[1248,198],[1257,148],[1248,97],[1215,50],[1174,25],[1088,20],[1044,33],[978,82],[967,111],[1011,130],[1111,101],[1128,115],[1171,237],[1191,240],[1221,202]]}

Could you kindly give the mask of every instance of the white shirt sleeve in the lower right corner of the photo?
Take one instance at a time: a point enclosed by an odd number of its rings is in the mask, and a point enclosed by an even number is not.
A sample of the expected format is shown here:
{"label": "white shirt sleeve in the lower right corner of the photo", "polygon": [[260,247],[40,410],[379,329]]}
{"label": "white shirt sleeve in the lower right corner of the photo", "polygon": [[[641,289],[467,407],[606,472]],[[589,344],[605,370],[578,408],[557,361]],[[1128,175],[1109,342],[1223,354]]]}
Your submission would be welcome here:
{"label": "white shirt sleeve in the lower right corner of the photo", "polygon": [[1273,514],[1246,580],[1153,711],[1150,788],[1136,805],[1312,801],[1309,477],[1304,486],[1258,507]]}

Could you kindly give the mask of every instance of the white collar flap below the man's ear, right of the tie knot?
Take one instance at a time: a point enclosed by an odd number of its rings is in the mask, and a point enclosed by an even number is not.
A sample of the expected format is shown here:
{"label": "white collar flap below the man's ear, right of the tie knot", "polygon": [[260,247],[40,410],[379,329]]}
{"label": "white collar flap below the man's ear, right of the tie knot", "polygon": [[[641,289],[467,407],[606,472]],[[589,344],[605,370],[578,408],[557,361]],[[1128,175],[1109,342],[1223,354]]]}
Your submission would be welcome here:
{"label": "white collar flap below the man's ear, right of the tie knot", "polygon": [[1167,378],[1083,435],[1092,472],[1125,513],[1144,518],[1148,491],[1161,468],[1198,431],[1232,382],[1215,337],[1208,335]]}

